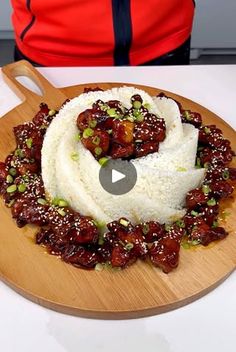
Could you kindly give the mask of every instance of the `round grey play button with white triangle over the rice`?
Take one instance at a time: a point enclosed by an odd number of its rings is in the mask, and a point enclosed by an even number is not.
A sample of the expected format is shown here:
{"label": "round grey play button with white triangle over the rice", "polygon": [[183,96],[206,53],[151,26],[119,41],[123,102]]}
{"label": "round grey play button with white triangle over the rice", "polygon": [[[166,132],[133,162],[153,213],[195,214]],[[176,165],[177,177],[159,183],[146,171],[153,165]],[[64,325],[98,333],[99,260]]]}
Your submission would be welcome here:
{"label": "round grey play button with white triangle over the rice", "polygon": [[137,172],[134,165],[127,160],[110,159],[101,167],[99,181],[108,193],[122,195],[134,187]]}

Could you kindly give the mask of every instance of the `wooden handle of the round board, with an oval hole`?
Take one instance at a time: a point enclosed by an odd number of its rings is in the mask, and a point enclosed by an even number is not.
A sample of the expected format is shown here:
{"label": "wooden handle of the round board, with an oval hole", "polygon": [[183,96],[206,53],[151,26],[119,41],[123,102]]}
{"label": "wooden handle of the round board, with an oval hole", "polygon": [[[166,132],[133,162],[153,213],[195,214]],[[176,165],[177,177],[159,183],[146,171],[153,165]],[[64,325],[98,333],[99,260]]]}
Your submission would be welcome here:
{"label": "wooden handle of the round board, with an oval hole", "polygon": [[[55,100],[63,102],[64,94],[55,88],[45,77],[43,77],[35,68],[26,60],[20,60],[2,67],[2,74],[5,82],[16,93],[16,95],[27,103],[39,104],[40,102],[50,102],[52,97]],[[23,86],[16,77],[25,76],[30,78],[41,90],[42,95],[32,92]]]}

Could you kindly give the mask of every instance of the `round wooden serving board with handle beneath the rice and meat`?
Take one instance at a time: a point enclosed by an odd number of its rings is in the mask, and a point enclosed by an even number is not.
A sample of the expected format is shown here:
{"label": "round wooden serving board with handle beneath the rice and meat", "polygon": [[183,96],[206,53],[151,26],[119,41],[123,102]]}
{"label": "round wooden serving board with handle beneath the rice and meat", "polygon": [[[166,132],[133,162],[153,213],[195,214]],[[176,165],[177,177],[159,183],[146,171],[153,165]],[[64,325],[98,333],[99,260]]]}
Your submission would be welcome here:
{"label": "round wooden serving board with handle beneath the rice and meat", "polygon": [[[84,87],[108,89],[123,84],[96,83],[56,89],[28,62],[21,61],[2,70],[5,80],[23,103],[0,119],[0,160],[14,148],[12,127],[31,120],[40,102],[59,108],[67,98],[79,95]],[[42,89],[38,96],[16,79],[28,76]],[[126,84],[128,85],[128,84]],[[137,86],[151,95],[162,90]],[[181,96],[166,92],[187,109],[198,111],[205,124],[216,124],[231,140],[236,150],[234,130],[206,108]],[[222,102],[223,103],[223,102]],[[10,210],[0,201],[0,276],[24,297],[59,312],[101,319],[137,318],[154,315],[188,304],[219,285],[236,267],[236,202],[235,197],[224,204],[230,215],[223,226],[230,235],[207,248],[181,248],[179,267],[163,274],[148,263],[137,262],[118,272],[77,269],[49,255],[35,245],[36,228],[17,228]],[[227,299],[227,297],[225,297]]]}

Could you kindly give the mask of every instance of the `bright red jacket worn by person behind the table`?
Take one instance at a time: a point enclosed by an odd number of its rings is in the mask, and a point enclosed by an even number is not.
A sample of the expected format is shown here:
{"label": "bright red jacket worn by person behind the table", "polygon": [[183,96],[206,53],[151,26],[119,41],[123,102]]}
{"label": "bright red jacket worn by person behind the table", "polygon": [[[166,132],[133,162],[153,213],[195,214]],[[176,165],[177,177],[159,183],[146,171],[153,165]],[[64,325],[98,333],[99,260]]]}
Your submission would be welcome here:
{"label": "bright red jacket worn by person behind the table", "polygon": [[45,66],[138,65],[184,43],[193,0],[12,0],[20,51]]}

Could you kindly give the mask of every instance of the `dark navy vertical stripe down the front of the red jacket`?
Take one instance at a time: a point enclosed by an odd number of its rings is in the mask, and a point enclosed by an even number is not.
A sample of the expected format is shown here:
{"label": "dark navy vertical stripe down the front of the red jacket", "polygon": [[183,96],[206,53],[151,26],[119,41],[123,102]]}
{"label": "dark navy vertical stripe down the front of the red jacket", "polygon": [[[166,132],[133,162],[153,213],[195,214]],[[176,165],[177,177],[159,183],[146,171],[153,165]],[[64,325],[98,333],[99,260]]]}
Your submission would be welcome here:
{"label": "dark navy vertical stripe down the front of the red jacket", "polygon": [[112,0],[113,26],[115,34],[115,66],[129,65],[132,41],[130,0]]}

